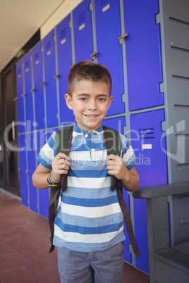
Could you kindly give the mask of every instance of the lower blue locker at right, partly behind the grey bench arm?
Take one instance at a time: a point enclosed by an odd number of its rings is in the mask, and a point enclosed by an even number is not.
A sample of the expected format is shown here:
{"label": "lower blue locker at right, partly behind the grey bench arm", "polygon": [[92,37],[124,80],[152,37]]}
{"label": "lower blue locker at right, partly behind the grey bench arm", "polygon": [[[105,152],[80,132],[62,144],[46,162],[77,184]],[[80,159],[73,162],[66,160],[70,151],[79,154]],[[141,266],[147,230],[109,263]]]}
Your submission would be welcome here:
{"label": "lower blue locker at right, partly behind the grey bench arm", "polygon": [[[168,182],[166,140],[162,139],[161,122],[164,110],[130,115],[131,141],[138,164],[135,166],[140,176],[140,187]],[[136,259],[136,267],[149,272],[147,245],[146,203],[134,199],[135,237],[141,256]]]}

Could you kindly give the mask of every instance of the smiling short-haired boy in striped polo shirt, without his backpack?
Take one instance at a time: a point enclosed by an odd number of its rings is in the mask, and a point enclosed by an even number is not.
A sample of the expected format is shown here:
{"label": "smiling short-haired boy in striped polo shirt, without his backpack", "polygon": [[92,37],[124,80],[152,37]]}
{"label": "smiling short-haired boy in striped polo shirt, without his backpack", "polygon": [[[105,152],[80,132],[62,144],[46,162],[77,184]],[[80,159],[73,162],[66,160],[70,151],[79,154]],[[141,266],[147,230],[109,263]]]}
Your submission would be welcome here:
{"label": "smiling short-haired boy in striped polo shirt, without his backpack", "polygon": [[53,133],[32,176],[35,187],[43,189],[49,187],[48,177],[59,183],[68,174],[54,220],[61,282],[122,282],[123,213],[116,190],[111,191],[111,175],[128,191],[138,189],[139,177],[135,154],[122,134],[122,156],[106,153],[102,120],[113,99],[109,71],[92,61],[73,65],[65,99],[75,115],[69,156],[56,156]]}

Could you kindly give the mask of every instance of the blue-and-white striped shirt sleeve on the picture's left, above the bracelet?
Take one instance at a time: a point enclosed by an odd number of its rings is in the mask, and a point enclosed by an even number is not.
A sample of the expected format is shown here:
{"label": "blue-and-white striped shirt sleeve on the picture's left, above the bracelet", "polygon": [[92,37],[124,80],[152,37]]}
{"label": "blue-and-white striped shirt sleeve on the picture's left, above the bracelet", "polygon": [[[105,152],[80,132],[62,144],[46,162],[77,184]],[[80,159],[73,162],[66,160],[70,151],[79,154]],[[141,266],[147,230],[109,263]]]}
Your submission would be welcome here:
{"label": "blue-and-white striped shirt sleeve on the picture's left, above the bracelet", "polygon": [[51,134],[51,137],[49,137],[47,143],[44,144],[37,156],[37,161],[39,161],[39,163],[41,163],[45,168],[51,169],[51,163],[53,158],[56,156],[55,134],[56,132]]}

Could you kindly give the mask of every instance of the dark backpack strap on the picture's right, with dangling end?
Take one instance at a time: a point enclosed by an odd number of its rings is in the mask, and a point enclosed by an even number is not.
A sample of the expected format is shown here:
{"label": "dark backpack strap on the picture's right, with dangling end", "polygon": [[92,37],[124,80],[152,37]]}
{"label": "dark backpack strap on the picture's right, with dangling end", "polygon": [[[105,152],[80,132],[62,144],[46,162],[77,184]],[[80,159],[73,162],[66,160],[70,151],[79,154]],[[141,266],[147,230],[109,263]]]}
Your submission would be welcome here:
{"label": "dark backpack strap on the picture's right, with dangling end", "polygon": [[[121,156],[121,138],[119,132],[117,132],[114,129],[110,129],[109,127],[103,127],[103,130],[104,130],[104,140],[106,143],[107,155],[115,154],[116,156]],[[128,211],[128,207],[126,206],[126,201],[123,198],[122,182],[121,180],[116,179],[114,175],[111,175],[111,190],[114,191],[115,188],[117,188],[118,203],[121,207],[123,218],[126,222],[130,244],[133,248],[136,258],[138,258],[140,256],[140,251],[138,250],[138,245],[135,240],[133,225],[130,219],[130,213]]]}

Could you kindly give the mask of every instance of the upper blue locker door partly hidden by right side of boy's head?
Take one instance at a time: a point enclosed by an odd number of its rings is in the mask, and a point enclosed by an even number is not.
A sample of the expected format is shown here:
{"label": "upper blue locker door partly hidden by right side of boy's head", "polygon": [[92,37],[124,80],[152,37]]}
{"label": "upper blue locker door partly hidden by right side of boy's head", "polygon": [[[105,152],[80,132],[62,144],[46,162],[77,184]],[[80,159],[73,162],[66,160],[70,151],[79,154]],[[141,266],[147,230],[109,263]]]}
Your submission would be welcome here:
{"label": "upper blue locker door partly hidden by right side of boy's head", "polygon": [[108,115],[125,112],[122,102],[124,94],[123,86],[123,60],[122,47],[118,37],[121,36],[120,6],[118,0],[94,0],[97,56],[98,63],[102,63],[109,69],[112,79],[113,103]]}

